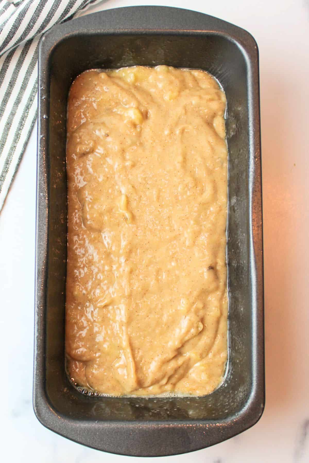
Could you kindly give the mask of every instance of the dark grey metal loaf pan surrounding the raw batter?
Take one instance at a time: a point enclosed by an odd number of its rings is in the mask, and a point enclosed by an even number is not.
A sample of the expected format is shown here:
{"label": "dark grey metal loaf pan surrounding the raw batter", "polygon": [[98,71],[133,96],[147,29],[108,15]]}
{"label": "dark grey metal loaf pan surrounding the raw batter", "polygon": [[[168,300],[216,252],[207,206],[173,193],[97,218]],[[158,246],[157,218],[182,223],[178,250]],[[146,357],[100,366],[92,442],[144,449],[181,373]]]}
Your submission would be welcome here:
{"label": "dark grey metal loaf pan surrounding the raw batter", "polygon": [[[89,397],[64,369],[67,257],[66,106],[90,68],[168,64],[205,69],[227,95],[227,375],[203,397]],[[42,424],[95,449],[162,456],[235,436],[260,418],[265,397],[258,49],[250,34],[201,13],[129,7],[53,27],[38,69],[38,185],[34,410]]]}

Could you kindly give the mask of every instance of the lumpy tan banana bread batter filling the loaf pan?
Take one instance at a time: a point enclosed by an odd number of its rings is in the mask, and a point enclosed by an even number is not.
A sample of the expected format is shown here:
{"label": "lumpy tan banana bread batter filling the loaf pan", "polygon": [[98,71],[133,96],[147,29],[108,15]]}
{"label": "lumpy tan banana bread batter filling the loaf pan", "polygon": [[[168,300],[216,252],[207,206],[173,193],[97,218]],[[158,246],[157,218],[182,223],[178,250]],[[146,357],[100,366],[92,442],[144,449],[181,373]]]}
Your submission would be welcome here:
{"label": "lumpy tan banana bread batter filling the loaf pan", "polygon": [[200,70],[84,72],[68,106],[69,376],[203,395],[227,361],[226,99]]}

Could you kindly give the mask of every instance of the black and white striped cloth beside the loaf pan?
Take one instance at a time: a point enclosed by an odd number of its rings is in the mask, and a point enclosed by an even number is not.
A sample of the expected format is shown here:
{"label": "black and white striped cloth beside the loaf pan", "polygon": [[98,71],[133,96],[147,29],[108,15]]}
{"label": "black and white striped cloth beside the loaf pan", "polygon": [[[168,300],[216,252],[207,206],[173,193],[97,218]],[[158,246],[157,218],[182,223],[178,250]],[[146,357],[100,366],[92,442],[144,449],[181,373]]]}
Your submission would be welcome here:
{"label": "black and white striped cloth beside the loaf pan", "polygon": [[0,0],[0,210],[37,117],[38,42],[101,0]]}

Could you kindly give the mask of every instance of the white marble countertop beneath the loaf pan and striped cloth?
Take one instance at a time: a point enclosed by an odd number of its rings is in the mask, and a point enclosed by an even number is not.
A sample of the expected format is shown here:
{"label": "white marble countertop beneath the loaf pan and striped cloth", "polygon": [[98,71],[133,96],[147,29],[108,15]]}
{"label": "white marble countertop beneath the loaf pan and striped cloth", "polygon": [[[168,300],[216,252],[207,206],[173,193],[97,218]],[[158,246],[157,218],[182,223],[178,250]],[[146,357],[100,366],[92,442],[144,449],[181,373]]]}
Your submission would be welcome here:
{"label": "white marble countertop beneath the loaf pan and striped cloth", "polygon": [[[266,407],[259,423],[166,462],[309,462],[309,0],[107,0],[195,9],[259,45],[265,245]],[[0,213],[1,461],[128,463],[45,429],[32,410],[36,127]],[[147,461],[130,458],[130,461]]]}

